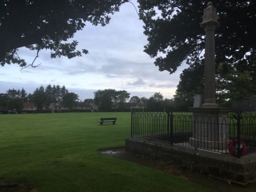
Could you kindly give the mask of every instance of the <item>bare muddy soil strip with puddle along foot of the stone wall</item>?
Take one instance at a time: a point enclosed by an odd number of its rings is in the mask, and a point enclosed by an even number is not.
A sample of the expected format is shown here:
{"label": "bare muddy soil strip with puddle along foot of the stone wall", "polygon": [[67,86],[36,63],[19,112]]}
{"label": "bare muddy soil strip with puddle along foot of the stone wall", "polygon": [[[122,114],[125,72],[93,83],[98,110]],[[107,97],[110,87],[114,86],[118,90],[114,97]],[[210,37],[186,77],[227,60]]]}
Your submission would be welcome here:
{"label": "bare muddy soil strip with puddle along foot of the stone wall", "polygon": [[205,175],[202,172],[188,170],[184,165],[175,161],[160,161],[158,159],[152,159],[143,155],[138,155],[132,152],[126,152],[124,147],[111,148],[100,151],[101,154],[111,155],[116,158],[124,159],[126,161],[134,162],[142,166],[147,166],[153,169],[162,170],[167,173],[176,175],[184,180],[197,183],[204,186],[207,189],[213,191],[232,191],[232,192],[254,192],[256,191],[256,183],[249,184],[247,186],[238,185],[232,183],[229,180],[220,180],[212,177],[211,175]]}

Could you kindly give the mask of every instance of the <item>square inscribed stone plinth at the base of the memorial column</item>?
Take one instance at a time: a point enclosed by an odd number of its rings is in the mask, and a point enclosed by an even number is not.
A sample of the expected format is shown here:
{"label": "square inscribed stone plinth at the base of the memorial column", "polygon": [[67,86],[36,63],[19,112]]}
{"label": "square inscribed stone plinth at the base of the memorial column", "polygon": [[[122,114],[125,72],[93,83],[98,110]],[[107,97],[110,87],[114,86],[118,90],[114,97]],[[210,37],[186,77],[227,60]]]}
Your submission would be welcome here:
{"label": "square inscribed stone plinth at the base of the memorial column", "polygon": [[193,113],[192,137],[189,145],[201,149],[223,150],[229,143],[230,108],[190,107]]}

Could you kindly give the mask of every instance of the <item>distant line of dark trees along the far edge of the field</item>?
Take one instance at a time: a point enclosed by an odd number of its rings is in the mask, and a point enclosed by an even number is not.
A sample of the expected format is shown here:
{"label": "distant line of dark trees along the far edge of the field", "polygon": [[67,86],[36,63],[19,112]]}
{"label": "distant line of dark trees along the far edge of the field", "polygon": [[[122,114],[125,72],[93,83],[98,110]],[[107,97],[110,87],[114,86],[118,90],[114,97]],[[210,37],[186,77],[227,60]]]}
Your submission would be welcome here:
{"label": "distant line of dark trees along the far edge of the field", "polygon": [[[130,100],[129,100],[130,99]],[[33,93],[27,93],[24,88],[8,89],[6,93],[0,93],[0,110],[22,111],[24,103],[33,103],[37,111],[48,109],[51,103],[60,103],[63,107],[73,109],[78,104],[92,105],[99,111],[130,111],[131,107],[144,108],[144,111],[185,111],[192,106],[190,100],[179,98],[164,99],[162,93],[155,92],[150,98],[133,96],[125,90],[104,89],[94,91],[93,99],[78,100],[78,95],[70,92],[65,86],[47,85],[37,87]]]}

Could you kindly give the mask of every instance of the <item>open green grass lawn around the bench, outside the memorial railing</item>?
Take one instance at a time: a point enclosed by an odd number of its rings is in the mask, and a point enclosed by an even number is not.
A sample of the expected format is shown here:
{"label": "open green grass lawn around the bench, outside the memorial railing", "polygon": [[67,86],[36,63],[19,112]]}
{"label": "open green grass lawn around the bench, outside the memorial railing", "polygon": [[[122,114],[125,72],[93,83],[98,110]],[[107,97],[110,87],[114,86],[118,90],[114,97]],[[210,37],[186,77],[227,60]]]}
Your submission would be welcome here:
{"label": "open green grass lawn around the bench, outside the memorial railing", "polygon": [[[38,191],[207,191],[158,171],[99,154],[124,146],[130,113],[0,115],[0,180]],[[117,117],[116,125],[98,122]]]}

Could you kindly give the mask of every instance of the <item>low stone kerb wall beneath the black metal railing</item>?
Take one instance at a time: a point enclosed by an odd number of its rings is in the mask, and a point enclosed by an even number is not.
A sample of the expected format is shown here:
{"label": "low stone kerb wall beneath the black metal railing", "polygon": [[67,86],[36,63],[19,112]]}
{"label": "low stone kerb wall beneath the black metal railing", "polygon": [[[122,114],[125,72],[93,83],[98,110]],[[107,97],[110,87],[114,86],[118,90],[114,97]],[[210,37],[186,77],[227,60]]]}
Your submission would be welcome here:
{"label": "low stone kerb wall beneath the black metal railing", "polygon": [[256,179],[255,153],[234,158],[229,154],[195,150],[137,137],[125,139],[125,150],[164,161],[174,160],[186,165],[188,169],[192,168],[194,171],[202,171],[234,182],[248,183]]}

